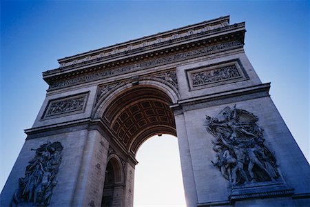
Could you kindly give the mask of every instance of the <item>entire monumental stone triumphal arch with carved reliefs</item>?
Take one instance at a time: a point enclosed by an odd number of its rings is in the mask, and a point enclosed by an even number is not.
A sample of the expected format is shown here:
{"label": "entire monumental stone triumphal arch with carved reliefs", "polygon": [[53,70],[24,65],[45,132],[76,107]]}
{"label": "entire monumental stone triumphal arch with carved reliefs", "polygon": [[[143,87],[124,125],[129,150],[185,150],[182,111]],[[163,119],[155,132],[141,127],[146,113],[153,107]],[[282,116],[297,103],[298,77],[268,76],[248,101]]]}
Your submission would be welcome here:
{"label": "entire monumental stone triumphal arch with carved reliefs", "polygon": [[187,206],[309,204],[309,164],[244,40],[220,17],[59,59],[1,206],[133,206],[136,151],[161,133]]}

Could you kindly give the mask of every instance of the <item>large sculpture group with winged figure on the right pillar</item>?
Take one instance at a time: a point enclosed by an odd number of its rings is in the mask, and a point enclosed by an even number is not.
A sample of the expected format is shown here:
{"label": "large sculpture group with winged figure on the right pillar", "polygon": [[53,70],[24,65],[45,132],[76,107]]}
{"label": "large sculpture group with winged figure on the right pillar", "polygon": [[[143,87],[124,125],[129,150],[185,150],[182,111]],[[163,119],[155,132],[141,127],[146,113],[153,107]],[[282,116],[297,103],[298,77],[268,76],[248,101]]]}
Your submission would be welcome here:
{"label": "large sculpture group with winged figure on the right pillar", "polygon": [[280,177],[276,159],[265,146],[258,118],[251,112],[226,107],[216,117],[206,117],[216,161],[211,161],[231,186],[274,181]]}

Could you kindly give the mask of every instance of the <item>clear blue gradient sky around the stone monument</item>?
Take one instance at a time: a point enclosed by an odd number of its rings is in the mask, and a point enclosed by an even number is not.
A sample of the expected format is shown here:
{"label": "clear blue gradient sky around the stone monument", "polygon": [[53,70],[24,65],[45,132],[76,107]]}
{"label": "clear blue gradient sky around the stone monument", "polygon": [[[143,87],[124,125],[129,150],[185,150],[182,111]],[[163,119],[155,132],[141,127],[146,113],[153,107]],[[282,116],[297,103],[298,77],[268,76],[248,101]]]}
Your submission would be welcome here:
{"label": "clear blue gradient sky around the stone monument", "polygon": [[226,15],[245,21],[246,55],[309,161],[309,1],[1,1],[0,190],[57,59]]}

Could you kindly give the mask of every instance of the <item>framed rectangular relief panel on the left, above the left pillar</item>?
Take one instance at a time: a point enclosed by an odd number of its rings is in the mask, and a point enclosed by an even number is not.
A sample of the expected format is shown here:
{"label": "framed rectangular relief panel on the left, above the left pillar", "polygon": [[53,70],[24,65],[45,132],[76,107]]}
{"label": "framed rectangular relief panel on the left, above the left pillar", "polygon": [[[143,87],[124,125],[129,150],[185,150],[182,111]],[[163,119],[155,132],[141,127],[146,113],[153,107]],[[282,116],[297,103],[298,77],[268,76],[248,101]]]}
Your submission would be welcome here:
{"label": "framed rectangular relief panel on the left, above the left pillar", "polygon": [[42,119],[84,112],[89,92],[50,100]]}

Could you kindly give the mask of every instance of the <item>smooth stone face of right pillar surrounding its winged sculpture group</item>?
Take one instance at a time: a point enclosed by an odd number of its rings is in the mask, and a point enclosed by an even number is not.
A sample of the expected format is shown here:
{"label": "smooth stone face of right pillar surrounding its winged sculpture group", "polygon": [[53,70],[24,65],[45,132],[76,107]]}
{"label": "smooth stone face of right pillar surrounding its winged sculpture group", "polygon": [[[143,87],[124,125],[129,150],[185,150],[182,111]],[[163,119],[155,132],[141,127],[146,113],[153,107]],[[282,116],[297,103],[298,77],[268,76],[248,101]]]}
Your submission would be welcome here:
{"label": "smooth stone face of right pillar surrounding its winged sculpture group", "polygon": [[[242,99],[242,101],[232,101],[217,106],[207,106],[209,104],[205,103],[205,107],[192,105],[190,109],[183,108],[198,206],[214,204],[247,206],[253,204],[254,199],[259,206],[266,204],[273,206],[307,204],[310,188],[309,164],[270,97]],[[238,187],[231,186],[220,170],[211,163],[211,161],[215,162],[217,158],[216,152],[213,150],[214,143],[212,143],[214,136],[207,132],[205,128],[205,115],[216,117],[225,107],[233,108],[235,104],[237,108],[257,115],[257,124],[264,130],[264,144],[276,157],[280,177],[275,181],[254,182]],[[191,121],[193,119],[195,121]],[[178,120],[178,116],[176,116],[176,123],[178,123]],[[180,139],[180,134],[178,134],[178,139]],[[184,177],[184,181],[186,181],[186,177]],[[186,188],[187,186],[185,186]],[[266,197],[270,197],[268,201],[262,199]],[[282,198],[279,199],[278,197]],[[251,201],[245,198],[251,199]]]}

